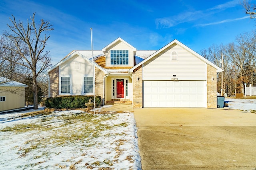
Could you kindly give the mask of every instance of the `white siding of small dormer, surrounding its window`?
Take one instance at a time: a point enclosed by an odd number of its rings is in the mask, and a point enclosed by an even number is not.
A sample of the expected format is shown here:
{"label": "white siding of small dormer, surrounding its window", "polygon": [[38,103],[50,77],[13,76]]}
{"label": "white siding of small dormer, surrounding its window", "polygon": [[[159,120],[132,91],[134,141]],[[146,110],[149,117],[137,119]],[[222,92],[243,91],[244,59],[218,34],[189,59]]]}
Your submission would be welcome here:
{"label": "white siding of small dormer, surrounding its window", "polygon": [[[125,64],[125,65],[111,64],[110,50],[128,50],[128,53],[129,53],[128,64]],[[106,66],[134,66],[133,49],[121,41],[118,41],[117,43],[113,44],[111,47],[106,49]]]}

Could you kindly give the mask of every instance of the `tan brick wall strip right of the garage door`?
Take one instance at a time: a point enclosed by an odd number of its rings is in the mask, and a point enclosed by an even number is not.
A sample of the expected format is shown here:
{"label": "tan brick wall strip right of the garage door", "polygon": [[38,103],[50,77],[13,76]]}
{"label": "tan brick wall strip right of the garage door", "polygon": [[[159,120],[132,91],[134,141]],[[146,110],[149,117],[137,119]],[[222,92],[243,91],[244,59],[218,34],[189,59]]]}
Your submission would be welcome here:
{"label": "tan brick wall strip right of the garage door", "polygon": [[[212,77],[214,80],[212,81]],[[207,108],[217,108],[217,72],[207,65]]]}

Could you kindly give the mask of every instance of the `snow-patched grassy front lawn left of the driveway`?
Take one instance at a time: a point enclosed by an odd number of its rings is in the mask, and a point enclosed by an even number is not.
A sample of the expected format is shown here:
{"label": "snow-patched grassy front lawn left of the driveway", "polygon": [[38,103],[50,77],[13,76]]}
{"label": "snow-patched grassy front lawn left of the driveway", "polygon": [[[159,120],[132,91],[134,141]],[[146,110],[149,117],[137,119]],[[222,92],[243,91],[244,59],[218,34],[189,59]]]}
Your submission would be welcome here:
{"label": "snow-patched grassy front lawn left of the driveway", "polygon": [[133,113],[0,115],[0,169],[140,169]]}

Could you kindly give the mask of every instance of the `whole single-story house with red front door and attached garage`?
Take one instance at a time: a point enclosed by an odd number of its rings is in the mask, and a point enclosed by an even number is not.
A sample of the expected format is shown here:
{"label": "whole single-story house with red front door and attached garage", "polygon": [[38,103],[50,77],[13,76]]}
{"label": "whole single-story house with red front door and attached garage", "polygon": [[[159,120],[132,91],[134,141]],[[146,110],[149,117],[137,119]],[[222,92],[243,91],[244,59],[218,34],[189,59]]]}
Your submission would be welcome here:
{"label": "whole single-story house with red front door and attached garage", "polygon": [[178,40],[158,51],[140,51],[121,38],[102,50],[72,51],[45,73],[49,96],[95,95],[103,104],[216,108],[216,75],[222,69]]}

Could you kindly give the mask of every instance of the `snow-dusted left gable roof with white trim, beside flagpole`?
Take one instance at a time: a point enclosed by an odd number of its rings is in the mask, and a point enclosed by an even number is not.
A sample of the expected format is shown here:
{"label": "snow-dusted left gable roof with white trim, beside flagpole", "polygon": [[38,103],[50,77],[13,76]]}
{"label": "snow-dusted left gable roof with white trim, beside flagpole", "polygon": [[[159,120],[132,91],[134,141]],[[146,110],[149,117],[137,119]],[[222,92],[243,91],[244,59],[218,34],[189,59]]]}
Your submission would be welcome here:
{"label": "snow-dusted left gable roof with white trim, beside flagpole", "polygon": [[[82,55],[81,53],[79,52],[82,52],[84,54],[87,54],[87,57]],[[55,64],[54,66],[52,66],[51,68],[49,68],[46,72],[44,72],[44,74],[48,74],[50,71],[52,71],[54,68],[60,66],[60,64],[64,63],[65,61],[71,59],[72,57],[74,57],[75,55],[78,55],[80,57],[82,57],[83,59],[85,59],[86,61],[88,61],[89,63],[92,63],[92,51],[72,51],[71,53],[69,53],[66,57],[64,57],[59,63]],[[88,52],[91,52],[91,54],[89,55]],[[95,53],[94,53],[95,54]],[[98,53],[97,53],[98,54]],[[94,65],[99,68],[100,70],[102,70],[105,74],[108,73],[108,71],[106,71],[104,68],[102,68],[101,66],[99,66],[97,63],[94,62]]]}

